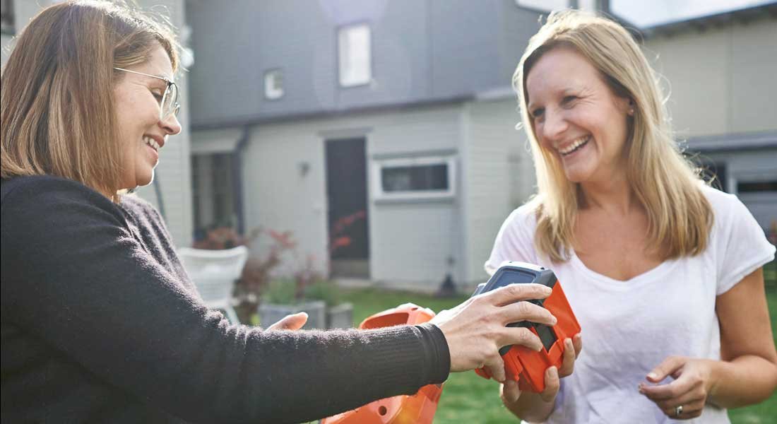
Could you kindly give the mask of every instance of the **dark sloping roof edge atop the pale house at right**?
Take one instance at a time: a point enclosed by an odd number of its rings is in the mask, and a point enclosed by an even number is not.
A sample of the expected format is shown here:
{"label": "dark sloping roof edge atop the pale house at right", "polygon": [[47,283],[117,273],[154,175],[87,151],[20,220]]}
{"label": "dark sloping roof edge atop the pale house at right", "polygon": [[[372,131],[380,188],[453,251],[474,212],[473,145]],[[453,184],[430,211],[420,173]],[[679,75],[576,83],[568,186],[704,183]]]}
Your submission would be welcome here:
{"label": "dark sloping roof edge atop the pale house at right", "polygon": [[730,23],[747,23],[755,19],[777,19],[777,2],[756,5],[744,9],[730,10],[713,15],[699,16],[692,19],[682,19],[674,22],[661,23],[655,26],[640,28],[644,37],[670,35],[687,30],[703,31],[710,27],[723,26]]}

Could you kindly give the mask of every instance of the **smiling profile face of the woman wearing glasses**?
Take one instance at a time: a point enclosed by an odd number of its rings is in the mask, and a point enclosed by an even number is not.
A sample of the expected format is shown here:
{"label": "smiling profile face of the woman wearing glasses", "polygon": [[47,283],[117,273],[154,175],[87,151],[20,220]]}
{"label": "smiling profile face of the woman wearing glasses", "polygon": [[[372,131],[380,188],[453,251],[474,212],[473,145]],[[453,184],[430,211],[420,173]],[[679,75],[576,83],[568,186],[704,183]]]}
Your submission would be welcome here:
{"label": "smiling profile face of the woman wearing glasses", "polygon": [[[172,64],[159,44],[148,55],[148,61],[127,69],[172,80]],[[125,75],[121,75],[120,82],[113,88],[123,153],[120,189],[150,184],[154,179],[154,167],[159,163],[159,149],[165,145],[168,135],[181,131],[174,115],[159,119],[167,82],[152,76],[123,73]]]}

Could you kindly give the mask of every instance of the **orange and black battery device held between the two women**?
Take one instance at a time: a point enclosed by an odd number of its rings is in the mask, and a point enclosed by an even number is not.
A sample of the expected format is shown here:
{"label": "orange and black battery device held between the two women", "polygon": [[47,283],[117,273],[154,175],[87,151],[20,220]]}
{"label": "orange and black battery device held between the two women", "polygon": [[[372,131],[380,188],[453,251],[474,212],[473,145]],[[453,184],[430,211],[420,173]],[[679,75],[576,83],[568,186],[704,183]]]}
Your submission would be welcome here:
{"label": "orange and black battery device held between the two women", "polygon": [[[552,293],[545,300],[530,300],[553,314],[558,322],[552,327],[528,321],[508,324],[509,327],[529,328],[542,341],[542,350],[535,352],[524,346],[508,345],[500,349],[507,378],[516,380],[521,391],[542,392],[545,390],[545,370],[563,363],[564,339],[580,333],[580,324],[567,302],[561,283],[549,269],[525,262],[504,262],[488,282],[480,284],[472,296],[490,292],[512,283],[537,283],[548,286]],[[479,376],[490,378],[484,368],[476,370]]]}

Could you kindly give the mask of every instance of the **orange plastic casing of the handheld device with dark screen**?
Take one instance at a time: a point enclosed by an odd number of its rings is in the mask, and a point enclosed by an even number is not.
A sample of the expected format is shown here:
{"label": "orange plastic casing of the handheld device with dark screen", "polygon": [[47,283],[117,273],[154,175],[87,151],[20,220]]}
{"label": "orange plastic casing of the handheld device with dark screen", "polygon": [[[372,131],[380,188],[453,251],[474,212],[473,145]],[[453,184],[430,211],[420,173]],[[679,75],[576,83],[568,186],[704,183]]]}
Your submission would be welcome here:
{"label": "orange plastic casing of the handheld device with dark screen", "polygon": [[[556,275],[552,271],[540,268],[537,265],[525,264],[522,262],[506,262],[503,264],[493,277],[486,282],[483,289],[479,288],[476,294],[485,293],[492,289],[497,289],[503,286],[503,283],[497,284],[497,279],[500,279],[500,275],[503,272],[520,270],[534,274],[535,279],[531,282],[537,282],[544,284],[545,286],[552,287],[550,296],[541,303],[543,307],[551,312],[557,319],[558,323],[553,327],[549,327],[552,334],[555,335],[556,341],[552,342],[549,349],[543,346],[542,350],[536,352],[528,349],[524,346],[514,345],[511,346],[507,352],[504,352],[502,359],[504,360],[504,370],[507,374],[507,378],[517,380],[521,391],[542,392],[545,390],[545,370],[550,366],[560,367],[563,363],[564,352],[564,340],[566,338],[572,338],[574,335],[580,333],[580,324],[577,322],[575,314],[572,312],[570,303],[566,300],[564,290],[561,288],[561,283],[556,279]],[[494,280],[492,282],[492,280]],[[533,325],[521,323],[521,326],[528,327],[531,332],[538,335],[538,332]],[[491,378],[490,373],[484,368],[476,370],[481,377]]]}

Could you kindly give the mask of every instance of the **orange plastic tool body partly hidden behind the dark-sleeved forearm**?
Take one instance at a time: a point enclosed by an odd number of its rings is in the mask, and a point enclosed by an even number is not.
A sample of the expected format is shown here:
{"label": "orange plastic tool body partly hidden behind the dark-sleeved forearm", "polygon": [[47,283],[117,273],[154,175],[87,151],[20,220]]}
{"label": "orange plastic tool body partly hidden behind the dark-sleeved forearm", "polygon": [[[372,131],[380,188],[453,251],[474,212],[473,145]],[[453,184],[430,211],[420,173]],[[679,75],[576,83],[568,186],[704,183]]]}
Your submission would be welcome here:
{"label": "orange plastic tool body partly hidden behind the dark-sleeved forearm", "polygon": [[[434,317],[434,312],[413,303],[385,310],[362,321],[359,328],[371,329],[394,325],[422,324]],[[429,384],[416,394],[380,399],[354,410],[322,419],[321,424],[430,424],[437,412],[442,384]]]}

